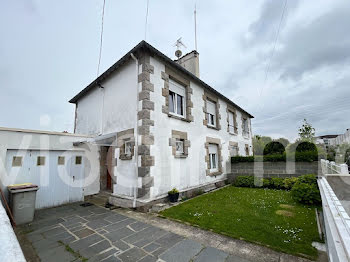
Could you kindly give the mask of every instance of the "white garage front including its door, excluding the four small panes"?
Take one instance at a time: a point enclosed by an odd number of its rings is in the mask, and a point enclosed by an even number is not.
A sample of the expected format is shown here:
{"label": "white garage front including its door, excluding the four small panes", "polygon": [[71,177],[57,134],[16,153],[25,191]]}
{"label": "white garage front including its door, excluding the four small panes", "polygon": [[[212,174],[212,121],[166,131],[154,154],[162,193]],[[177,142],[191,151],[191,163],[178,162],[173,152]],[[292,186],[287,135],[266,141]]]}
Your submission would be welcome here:
{"label": "white garage front including its door, excluding the four small panes", "polygon": [[[73,142],[86,139],[88,137],[84,135],[0,128],[0,186],[5,195],[10,184],[37,184],[41,189],[36,208],[42,208],[98,193],[99,155],[96,147],[73,146]],[[22,167],[12,167],[14,155],[23,156]],[[39,155],[46,156],[43,167],[36,166]],[[57,166],[59,155],[66,157],[64,169]],[[80,167],[72,164],[76,155],[83,156]]]}

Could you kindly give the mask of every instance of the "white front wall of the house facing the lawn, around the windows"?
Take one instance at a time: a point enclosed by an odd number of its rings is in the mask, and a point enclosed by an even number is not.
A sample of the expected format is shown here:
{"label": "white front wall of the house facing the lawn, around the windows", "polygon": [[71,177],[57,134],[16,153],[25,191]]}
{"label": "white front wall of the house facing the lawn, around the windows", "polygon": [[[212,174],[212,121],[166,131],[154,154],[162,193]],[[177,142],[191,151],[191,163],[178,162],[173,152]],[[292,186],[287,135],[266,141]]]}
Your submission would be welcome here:
{"label": "white front wall of the house facing the lawn, around the windows", "polygon": [[[226,173],[230,172],[229,141],[238,142],[239,154],[245,155],[245,144],[250,146],[252,154],[251,126],[250,138],[242,136],[241,112],[237,110],[238,135],[231,135],[227,132],[227,113],[226,102],[219,99],[221,114],[221,130],[207,128],[203,125],[204,101],[202,95],[204,89],[194,82],[190,83],[193,89],[192,115],[194,122],[188,123],[178,119],[169,118],[162,113],[162,105],[165,104],[165,98],[162,96],[164,81],[161,79],[161,71],[165,71],[165,66],[156,58],[151,57],[151,64],[154,66],[154,74],[151,74],[151,82],[154,84],[154,93],[151,93],[151,100],[155,102],[155,110],[151,114],[155,126],[151,132],[155,137],[155,144],[151,146],[151,155],[155,156],[155,166],[151,167],[151,175],[154,176],[154,187],[151,189],[151,197],[157,197],[166,194],[171,188],[176,187],[179,190],[205,185],[225,178]],[[187,158],[174,158],[172,149],[169,146],[171,130],[187,132],[188,139],[191,141],[189,155]],[[222,143],[223,175],[210,177],[206,175],[206,151],[204,143],[206,137],[219,138]]]}

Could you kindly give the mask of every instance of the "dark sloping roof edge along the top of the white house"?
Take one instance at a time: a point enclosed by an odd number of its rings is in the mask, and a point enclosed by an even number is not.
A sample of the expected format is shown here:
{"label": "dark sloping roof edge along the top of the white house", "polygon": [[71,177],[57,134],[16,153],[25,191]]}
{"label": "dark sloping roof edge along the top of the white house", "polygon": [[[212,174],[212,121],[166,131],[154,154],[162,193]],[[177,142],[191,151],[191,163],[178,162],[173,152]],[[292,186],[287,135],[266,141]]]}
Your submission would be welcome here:
{"label": "dark sloping roof edge along the top of the white house", "polygon": [[168,56],[164,55],[162,52],[154,48],[152,45],[147,43],[146,41],[141,41],[138,45],[136,45],[133,49],[131,49],[128,53],[126,53],[121,59],[119,59],[115,64],[113,64],[110,68],[108,68],[103,74],[101,74],[99,77],[97,77],[94,81],[92,81],[87,87],[85,87],[82,91],[80,91],[76,96],[74,96],[71,100],[69,100],[69,103],[76,103],[80,98],[82,98],[85,94],[87,94],[91,89],[101,84],[111,73],[113,73],[115,70],[117,70],[120,66],[125,64],[129,59],[131,59],[130,54],[137,54],[139,52],[149,52],[152,55],[157,56],[163,62],[171,65],[172,67],[176,68],[177,70],[181,71],[183,74],[191,78],[192,81],[198,83],[201,85],[204,89],[207,89],[211,93],[214,93],[221,99],[225,100],[226,102],[232,104],[236,108],[240,109],[244,113],[246,113],[250,118],[254,118],[251,114],[249,114],[247,111],[245,111],[243,108],[235,104],[233,101],[231,101],[229,98],[209,86],[207,83],[199,79],[197,76],[180,66],[178,63],[173,61]]}

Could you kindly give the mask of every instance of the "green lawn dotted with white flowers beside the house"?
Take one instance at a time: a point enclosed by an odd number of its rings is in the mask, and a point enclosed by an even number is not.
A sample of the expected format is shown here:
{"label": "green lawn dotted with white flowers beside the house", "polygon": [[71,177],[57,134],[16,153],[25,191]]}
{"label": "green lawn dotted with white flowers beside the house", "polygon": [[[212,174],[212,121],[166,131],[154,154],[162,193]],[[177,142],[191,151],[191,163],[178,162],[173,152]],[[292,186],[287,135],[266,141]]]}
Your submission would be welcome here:
{"label": "green lawn dotted with white flowers beside the house", "polygon": [[[277,214],[277,213],[278,214]],[[314,207],[288,191],[229,186],[164,210],[161,215],[294,255],[317,257]]]}

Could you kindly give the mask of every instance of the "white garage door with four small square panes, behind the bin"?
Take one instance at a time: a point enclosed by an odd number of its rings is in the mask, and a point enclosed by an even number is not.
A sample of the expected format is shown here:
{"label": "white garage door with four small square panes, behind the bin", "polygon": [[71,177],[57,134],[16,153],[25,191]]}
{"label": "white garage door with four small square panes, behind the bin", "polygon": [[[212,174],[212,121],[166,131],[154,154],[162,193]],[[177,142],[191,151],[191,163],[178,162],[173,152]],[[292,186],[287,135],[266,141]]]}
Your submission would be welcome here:
{"label": "white garage door with four small square panes, behind the bin", "polygon": [[36,208],[84,199],[83,152],[7,150],[6,170],[12,184],[33,183],[40,187]]}

